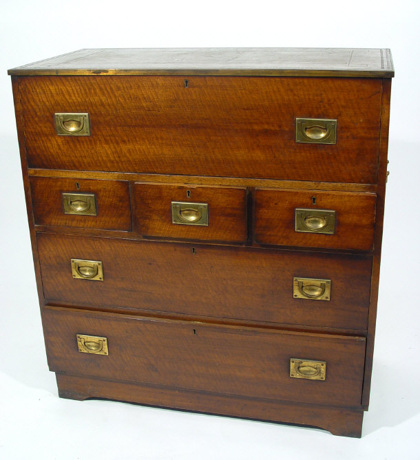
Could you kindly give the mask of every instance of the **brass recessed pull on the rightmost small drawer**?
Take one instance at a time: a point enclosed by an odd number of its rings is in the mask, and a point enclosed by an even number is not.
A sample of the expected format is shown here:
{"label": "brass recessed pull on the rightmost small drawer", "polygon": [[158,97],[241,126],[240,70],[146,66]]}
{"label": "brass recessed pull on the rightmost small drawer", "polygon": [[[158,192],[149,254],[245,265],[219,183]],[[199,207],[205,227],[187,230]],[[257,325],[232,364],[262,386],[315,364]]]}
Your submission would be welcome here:
{"label": "brass recessed pull on the rightmost small drawer", "polygon": [[295,209],[295,231],[303,233],[335,233],[335,211],[330,209]]}

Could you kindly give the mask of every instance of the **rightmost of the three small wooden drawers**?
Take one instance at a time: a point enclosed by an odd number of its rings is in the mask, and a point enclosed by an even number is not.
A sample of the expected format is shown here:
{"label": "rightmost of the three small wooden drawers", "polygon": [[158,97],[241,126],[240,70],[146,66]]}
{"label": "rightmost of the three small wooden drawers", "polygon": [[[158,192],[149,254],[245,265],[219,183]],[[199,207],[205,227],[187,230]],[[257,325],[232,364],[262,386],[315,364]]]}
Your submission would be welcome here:
{"label": "rightmost of the three small wooden drawers", "polygon": [[375,209],[372,193],[256,189],[255,242],[370,251]]}

